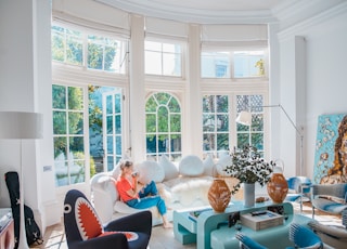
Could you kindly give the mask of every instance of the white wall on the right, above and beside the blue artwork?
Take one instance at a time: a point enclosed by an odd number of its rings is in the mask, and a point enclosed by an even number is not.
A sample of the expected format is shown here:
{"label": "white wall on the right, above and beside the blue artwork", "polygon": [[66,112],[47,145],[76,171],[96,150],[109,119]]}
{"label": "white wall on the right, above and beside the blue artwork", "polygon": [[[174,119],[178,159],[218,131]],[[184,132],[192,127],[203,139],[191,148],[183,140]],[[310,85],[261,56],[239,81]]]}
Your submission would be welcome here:
{"label": "white wall on the right, above and beside the blue artwork", "polygon": [[[306,47],[306,95],[298,96],[293,84],[295,76],[294,39],[296,36],[305,38]],[[344,2],[325,11],[310,19],[306,19],[295,26],[281,30],[280,57],[281,57],[281,90],[282,102],[300,106],[304,101],[305,108],[297,112],[305,113],[305,172],[312,178],[314,167],[314,145],[317,135],[318,116],[322,114],[347,113],[345,104],[346,58],[347,58],[347,3]],[[294,65],[295,66],[295,65]],[[300,100],[304,99],[304,100]],[[291,100],[292,99],[292,100]],[[293,108],[291,107],[291,114]],[[295,114],[295,112],[294,112]],[[296,114],[294,117],[298,117]],[[283,140],[293,140],[293,132],[283,131]],[[281,154],[286,157],[293,150],[293,144],[281,143]],[[290,175],[287,175],[290,176]]]}

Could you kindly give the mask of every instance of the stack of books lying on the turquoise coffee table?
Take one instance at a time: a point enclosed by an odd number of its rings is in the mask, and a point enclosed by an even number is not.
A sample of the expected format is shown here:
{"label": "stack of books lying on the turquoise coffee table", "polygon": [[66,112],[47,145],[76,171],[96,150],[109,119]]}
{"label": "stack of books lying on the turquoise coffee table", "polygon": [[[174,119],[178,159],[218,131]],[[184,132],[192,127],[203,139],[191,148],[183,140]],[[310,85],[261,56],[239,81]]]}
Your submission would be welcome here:
{"label": "stack of books lying on the turquoise coffee table", "polygon": [[241,223],[255,231],[265,230],[283,225],[283,215],[269,210],[255,211],[241,214]]}

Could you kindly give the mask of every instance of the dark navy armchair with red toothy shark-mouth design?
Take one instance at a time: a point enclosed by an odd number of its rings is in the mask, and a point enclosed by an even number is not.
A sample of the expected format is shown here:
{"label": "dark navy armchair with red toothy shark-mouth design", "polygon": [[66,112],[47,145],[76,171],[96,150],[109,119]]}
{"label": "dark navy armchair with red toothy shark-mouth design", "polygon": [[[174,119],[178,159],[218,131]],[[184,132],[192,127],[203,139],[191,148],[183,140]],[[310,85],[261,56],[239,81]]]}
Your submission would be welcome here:
{"label": "dark navy armchair with red toothy shark-mouth design", "polygon": [[152,234],[152,213],[141,211],[102,225],[86,196],[72,189],[65,196],[64,226],[69,249],[146,249]]}

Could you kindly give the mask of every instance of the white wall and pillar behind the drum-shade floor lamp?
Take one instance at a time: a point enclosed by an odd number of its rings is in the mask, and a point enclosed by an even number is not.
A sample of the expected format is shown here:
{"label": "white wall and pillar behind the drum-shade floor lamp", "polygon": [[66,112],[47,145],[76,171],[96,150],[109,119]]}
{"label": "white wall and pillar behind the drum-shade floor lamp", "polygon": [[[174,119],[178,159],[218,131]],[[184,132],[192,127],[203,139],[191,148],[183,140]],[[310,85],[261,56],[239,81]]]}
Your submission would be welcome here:
{"label": "white wall and pillar behind the drum-shade floor lamp", "polygon": [[[24,141],[25,204],[35,211],[42,232],[60,221],[55,204],[52,141],[51,6],[49,0],[0,2],[0,110],[43,114],[43,139]],[[0,140],[0,173],[18,171],[18,141]],[[1,176],[1,180],[3,176]],[[8,188],[0,181],[0,207],[10,207]],[[50,206],[50,208],[47,208]]]}

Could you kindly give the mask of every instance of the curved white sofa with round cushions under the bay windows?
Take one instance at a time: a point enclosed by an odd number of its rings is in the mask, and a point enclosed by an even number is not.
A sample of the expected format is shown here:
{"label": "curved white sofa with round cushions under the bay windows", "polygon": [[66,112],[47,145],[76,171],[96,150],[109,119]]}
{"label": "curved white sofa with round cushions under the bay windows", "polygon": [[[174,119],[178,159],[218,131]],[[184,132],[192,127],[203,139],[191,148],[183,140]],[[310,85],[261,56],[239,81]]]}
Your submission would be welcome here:
{"label": "curved white sofa with round cushions under the bay windows", "polygon": [[[159,195],[168,208],[168,219],[172,219],[172,210],[191,209],[194,207],[210,207],[207,193],[214,180],[215,163],[210,157],[204,161],[196,156],[182,158],[179,166],[174,165],[163,156],[159,162],[143,161],[136,165],[139,181],[156,182]],[[112,172],[98,173],[91,179],[92,202],[103,223],[117,217],[138,212],[119,199],[115,180],[119,174],[116,167]],[[156,207],[151,208],[153,225],[162,223]]]}

